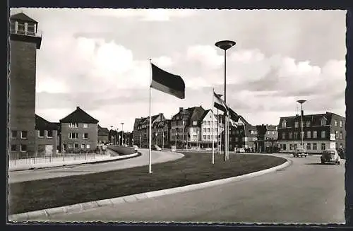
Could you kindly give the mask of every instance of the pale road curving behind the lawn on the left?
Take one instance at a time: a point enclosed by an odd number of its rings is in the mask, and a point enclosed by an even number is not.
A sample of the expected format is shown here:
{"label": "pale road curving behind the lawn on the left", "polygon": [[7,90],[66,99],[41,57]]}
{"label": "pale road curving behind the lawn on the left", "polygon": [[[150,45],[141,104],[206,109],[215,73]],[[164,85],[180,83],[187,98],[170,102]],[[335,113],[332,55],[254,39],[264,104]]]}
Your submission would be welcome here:
{"label": "pale road curving behind the lawn on the left", "polygon": [[[8,172],[8,183],[25,182],[36,179],[48,179],[56,177],[66,177],[78,174],[90,174],[95,172],[108,172],[129,167],[148,165],[148,149],[138,150],[142,155],[126,160],[114,160],[111,162],[88,163],[85,165],[71,165],[65,167],[51,167],[49,169],[25,170]],[[167,162],[177,160],[183,155],[168,151],[152,150],[152,170],[153,164],[157,162]],[[148,172],[148,167],[146,166]]]}

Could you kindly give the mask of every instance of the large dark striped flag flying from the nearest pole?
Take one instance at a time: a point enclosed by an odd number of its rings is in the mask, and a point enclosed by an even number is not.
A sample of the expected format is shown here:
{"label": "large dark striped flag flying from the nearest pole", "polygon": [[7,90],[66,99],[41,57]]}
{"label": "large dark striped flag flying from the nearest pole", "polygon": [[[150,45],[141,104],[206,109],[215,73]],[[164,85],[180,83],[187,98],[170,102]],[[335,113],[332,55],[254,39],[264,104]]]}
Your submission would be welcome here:
{"label": "large dark striped flag flying from the nearest pole", "polygon": [[185,83],[180,76],[168,73],[151,63],[152,82],[150,87],[180,99],[185,98]]}

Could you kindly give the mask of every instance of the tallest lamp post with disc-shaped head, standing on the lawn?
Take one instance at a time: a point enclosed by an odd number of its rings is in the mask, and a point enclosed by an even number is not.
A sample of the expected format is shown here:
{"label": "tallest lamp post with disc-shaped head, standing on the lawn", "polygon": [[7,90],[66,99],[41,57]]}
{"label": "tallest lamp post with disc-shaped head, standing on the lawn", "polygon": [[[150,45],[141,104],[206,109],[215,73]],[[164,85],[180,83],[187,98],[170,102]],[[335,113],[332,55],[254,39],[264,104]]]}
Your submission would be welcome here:
{"label": "tallest lamp post with disc-shaped head, standing on the lawn", "polygon": [[[225,51],[225,102],[227,102],[227,49],[233,47],[235,45],[234,41],[230,40],[222,40],[219,42],[215,43],[216,47],[219,47],[220,49]],[[229,158],[228,157],[228,149],[229,149],[229,144],[228,144],[228,115],[227,112],[225,112],[225,161]]]}

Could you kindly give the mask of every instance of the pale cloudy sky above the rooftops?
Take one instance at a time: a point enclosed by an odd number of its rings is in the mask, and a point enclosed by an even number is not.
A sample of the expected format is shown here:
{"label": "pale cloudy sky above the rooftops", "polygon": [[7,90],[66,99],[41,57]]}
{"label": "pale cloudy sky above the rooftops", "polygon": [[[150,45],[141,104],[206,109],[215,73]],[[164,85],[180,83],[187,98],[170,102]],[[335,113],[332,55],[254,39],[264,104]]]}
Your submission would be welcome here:
{"label": "pale cloudy sky above the rooftops", "polygon": [[184,79],[185,99],[152,89],[151,114],[212,109],[213,89],[249,123],[299,114],[345,116],[345,13],[303,10],[12,8],[38,21],[36,114],[59,122],[77,106],[100,126],[133,130],[149,114],[149,59]]}

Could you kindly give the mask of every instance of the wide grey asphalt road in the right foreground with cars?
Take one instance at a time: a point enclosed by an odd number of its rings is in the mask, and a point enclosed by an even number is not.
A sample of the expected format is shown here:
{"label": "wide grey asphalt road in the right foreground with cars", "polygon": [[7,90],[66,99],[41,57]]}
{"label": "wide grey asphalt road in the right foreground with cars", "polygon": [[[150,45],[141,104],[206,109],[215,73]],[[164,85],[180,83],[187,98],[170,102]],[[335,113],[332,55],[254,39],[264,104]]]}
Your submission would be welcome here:
{"label": "wide grey asphalt road in the right foreground with cars", "polygon": [[[251,155],[251,154],[250,154]],[[54,215],[52,221],[345,223],[345,165],[320,158],[292,158],[270,174],[154,199]],[[44,218],[48,220],[48,218]]]}

